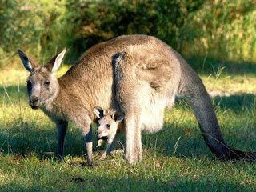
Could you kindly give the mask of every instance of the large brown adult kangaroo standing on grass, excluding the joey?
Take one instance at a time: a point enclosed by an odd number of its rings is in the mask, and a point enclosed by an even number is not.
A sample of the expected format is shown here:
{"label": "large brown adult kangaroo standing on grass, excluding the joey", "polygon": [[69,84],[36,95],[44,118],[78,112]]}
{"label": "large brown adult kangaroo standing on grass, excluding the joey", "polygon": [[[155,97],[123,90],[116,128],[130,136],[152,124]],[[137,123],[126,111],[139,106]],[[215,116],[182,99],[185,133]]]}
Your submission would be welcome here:
{"label": "large brown adult kangaroo standing on grass, excluding the joey", "polygon": [[222,159],[255,159],[254,152],[231,149],[219,129],[210,97],[198,74],[180,54],[158,38],[126,35],[99,43],[87,50],[61,78],[54,77],[65,50],[39,66],[21,50],[18,54],[30,71],[27,89],[32,109],[41,108],[58,128],[58,154],[68,122],[80,127],[86,139],[87,162],[93,162],[91,123],[94,106],[122,110],[126,160],[142,159],[141,131],[162,128],[164,109],[182,95],[194,110],[203,138]]}

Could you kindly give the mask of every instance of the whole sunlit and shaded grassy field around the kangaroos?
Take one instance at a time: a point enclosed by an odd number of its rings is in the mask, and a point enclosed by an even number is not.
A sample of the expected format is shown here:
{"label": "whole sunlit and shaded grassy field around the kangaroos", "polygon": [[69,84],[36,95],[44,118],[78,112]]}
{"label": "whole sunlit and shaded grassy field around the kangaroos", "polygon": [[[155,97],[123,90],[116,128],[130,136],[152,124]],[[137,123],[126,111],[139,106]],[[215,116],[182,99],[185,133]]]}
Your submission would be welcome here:
{"label": "whole sunlit and shaded grassy field around the kangaroos", "polygon": [[[62,67],[58,76],[66,70]],[[199,74],[214,96],[226,142],[241,150],[256,150],[255,70],[230,73],[218,68]],[[86,147],[81,131],[72,124],[65,161],[59,162],[54,158],[54,123],[28,106],[27,76],[21,64],[0,71],[0,191],[256,191],[255,163],[214,158],[184,101],[166,110],[158,134],[143,134],[142,162],[128,165],[122,154],[99,162],[106,146],[96,149],[94,145],[97,165],[82,167]]]}

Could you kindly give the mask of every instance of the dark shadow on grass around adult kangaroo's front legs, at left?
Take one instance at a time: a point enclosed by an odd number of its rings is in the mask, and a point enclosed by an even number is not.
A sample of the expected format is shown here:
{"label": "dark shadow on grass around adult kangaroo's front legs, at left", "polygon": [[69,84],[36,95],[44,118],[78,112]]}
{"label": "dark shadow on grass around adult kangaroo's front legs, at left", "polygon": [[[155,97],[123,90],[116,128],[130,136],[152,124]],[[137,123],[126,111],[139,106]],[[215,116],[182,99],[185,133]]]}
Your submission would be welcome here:
{"label": "dark shadow on grass around adult kangaroo's front legs, at left", "polygon": [[[38,158],[51,158],[53,155],[57,155],[58,133],[53,123],[49,123],[49,127],[38,126],[36,123],[33,124],[29,125],[27,122],[21,122],[17,126],[2,128],[5,130],[0,132],[1,152],[25,156],[34,153],[38,154]],[[85,142],[83,142],[81,131],[76,128],[68,130],[65,154],[82,156],[85,149],[86,146]]]}

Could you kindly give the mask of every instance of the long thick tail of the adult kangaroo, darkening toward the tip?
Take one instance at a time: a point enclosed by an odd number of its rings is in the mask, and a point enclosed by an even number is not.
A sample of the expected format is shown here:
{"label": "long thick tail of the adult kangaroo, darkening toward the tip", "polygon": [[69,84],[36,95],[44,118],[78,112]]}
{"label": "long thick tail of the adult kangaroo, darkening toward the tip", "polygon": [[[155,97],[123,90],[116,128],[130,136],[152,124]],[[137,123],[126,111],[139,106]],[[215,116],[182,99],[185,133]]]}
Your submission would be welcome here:
{"label": "long thick tail of the adult kangaroo, darkening toward the tip", "polygon": [[182,81],[180,82],[179,94],[181,94],[194,110],[198,119],[200,130],[206,145],[219,159],[256,160],[256,152],[235,150],[226,145],[218,125],[218,119],[210,101],[210,96],[202,84],[198,74],[178,55],[181,61]]}

